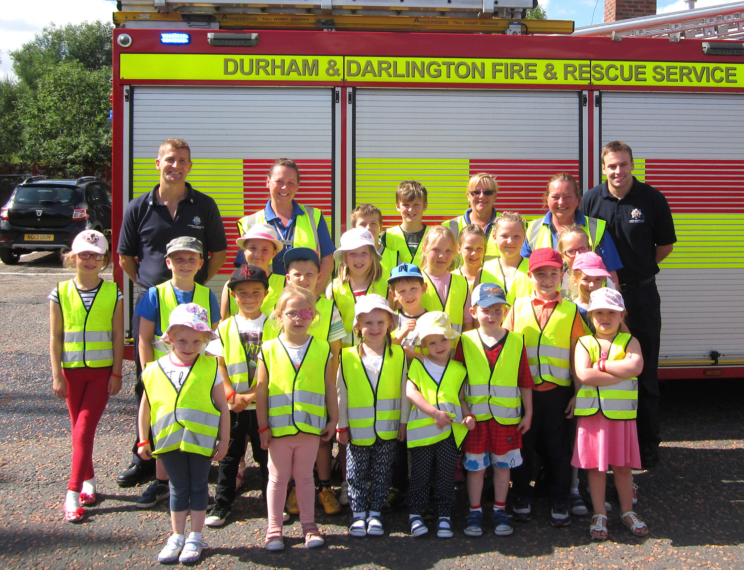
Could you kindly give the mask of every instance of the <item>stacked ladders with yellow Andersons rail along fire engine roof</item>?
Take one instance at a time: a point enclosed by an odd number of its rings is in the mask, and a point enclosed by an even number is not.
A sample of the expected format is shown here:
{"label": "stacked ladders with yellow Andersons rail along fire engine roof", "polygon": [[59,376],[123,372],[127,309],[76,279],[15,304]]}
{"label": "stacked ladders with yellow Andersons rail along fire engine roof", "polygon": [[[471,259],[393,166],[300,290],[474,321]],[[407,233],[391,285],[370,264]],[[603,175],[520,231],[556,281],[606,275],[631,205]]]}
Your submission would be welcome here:
{"label": "stacked ladders with yellow Andersons rail along fire engine roof", "polygon": [[524,19],[533,0],[122,0],[119,28],[562,33],[571,20]]}

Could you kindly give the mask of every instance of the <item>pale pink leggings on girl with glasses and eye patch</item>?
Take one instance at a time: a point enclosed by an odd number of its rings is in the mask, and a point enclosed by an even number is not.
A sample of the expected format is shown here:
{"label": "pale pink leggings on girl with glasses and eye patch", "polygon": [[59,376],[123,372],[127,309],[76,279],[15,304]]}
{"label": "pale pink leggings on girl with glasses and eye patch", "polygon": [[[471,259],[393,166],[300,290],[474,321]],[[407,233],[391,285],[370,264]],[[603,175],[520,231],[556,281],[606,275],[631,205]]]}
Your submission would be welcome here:
{"label": "pale pink leggings on girl with glasses and eye patch", "polygon": [[269,528],[266,537],[281,536],[286,486],[291,477],[295,478],[301,524],[315,522],[315,480],[312,478],[312,466],[318,455],[320,441],[318,435],[298,433],[272,438],[269,442],[269,488],[266,490]]}

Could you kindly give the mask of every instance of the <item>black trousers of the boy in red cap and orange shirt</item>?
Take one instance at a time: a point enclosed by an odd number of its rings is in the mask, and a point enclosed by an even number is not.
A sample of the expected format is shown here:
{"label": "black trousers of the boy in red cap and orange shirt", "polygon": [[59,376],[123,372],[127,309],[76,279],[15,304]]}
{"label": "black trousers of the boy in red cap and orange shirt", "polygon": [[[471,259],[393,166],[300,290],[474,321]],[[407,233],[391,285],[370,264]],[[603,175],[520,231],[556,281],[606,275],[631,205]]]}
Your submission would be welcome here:
{"label": "black trousers of the boy in red cap and orange shirt", "polygon": [[565,417],[568,402],[574,397],[573,386],[557,386],[548,391],[532,391],[532,425],[522,435],[522,465],[511,470],[516,499],[532,499],[534,455],[536,447],[545,450],[545,467],[550,470],[551,503],[568,501],[571,490],[571,455],[576,438],[576,423]]}

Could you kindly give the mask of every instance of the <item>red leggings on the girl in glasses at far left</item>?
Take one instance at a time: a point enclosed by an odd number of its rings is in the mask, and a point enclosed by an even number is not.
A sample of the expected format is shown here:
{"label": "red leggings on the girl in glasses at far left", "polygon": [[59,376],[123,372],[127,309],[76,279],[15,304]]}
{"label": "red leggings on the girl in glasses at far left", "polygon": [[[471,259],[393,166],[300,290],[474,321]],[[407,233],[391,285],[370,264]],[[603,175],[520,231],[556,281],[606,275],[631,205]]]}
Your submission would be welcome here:
{"label": "red leggings on the girl in glasses at far left", "polygon": [[62,368],[67,380],[67,409],[72,423],[72,473],[68,490],[80,493],[93,478],[93,437],[109,401],[112,368]]}

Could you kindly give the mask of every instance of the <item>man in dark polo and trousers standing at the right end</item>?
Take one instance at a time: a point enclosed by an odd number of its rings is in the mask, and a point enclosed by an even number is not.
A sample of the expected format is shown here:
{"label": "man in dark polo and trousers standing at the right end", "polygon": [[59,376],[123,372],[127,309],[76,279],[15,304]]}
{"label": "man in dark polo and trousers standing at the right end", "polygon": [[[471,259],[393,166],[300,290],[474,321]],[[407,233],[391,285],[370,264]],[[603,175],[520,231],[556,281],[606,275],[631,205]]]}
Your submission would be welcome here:
{"label": "man in dark polo and trousers standing at the right end", "polygon": [[638,444],[644,468],[658,464],[661,442],[658,421],[658,351],[661,337],[661,299],[656,289],[658,264],[677,240],[664,194],[632,176],[633,153],[620,141],[602,150],[607,182],[584,194],[581,211],[607,222],[618,249],[620,292],[628,311],[626,324],[641,343],[644,370],[638,374]]}

